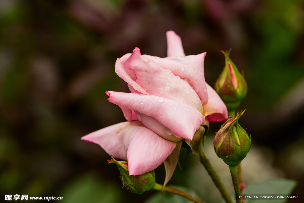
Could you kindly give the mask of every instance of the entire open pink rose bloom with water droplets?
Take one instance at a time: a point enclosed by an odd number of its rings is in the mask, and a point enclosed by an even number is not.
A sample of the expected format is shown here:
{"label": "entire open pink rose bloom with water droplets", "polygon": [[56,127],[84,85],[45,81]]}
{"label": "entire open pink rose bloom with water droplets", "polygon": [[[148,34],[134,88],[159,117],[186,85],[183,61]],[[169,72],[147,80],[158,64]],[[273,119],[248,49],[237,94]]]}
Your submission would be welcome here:
{"label": "entire open pink rose bloom with water droplets", "polygon": [[228,118],[225,104],[205,82],[206,53],[185,56],[181,38],[174,31],[167,32],[167,46],[167,58],[141,55],[135,48],[117,59],[115,72],[128,83],[131,93],[106,94],[127,121],[81,138],[127,160],[129,175],[161,165],[176,142],[192,140],[205,124],[205,116],[212,122]]}

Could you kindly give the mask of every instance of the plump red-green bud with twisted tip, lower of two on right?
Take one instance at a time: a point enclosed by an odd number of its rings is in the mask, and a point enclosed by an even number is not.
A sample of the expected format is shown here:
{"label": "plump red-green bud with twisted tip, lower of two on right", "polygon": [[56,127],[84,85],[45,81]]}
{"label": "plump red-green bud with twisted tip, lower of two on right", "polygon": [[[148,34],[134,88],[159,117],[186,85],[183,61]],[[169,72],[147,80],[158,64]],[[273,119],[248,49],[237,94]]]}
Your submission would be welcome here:
{"label": "plump red-green bud with twisted tip, lower of two on right", "polygon": [[217,156],[229,165],[236,166],[247,156],[251,147],[251,139],[238,123],[245,110],[233,119],[228,119],[214,138],[214,150]]}

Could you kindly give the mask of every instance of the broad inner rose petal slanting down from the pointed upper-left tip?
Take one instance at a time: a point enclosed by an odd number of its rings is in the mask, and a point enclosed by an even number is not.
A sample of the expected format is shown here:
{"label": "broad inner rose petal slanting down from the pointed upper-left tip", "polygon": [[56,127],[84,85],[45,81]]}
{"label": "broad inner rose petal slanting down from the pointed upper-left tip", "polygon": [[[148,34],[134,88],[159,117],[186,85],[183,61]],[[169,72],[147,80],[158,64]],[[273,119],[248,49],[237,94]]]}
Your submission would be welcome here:
{"label": "broad inner rose petal slanting down from the pointed upper-left tip", "polygon": [[165,70],[153,60],[142,57],[136,49],[124,64],[136,74],[136,83],[149,94],[186,103],[203,112],[202,102],[192,87],[175,76],[170,70]]}

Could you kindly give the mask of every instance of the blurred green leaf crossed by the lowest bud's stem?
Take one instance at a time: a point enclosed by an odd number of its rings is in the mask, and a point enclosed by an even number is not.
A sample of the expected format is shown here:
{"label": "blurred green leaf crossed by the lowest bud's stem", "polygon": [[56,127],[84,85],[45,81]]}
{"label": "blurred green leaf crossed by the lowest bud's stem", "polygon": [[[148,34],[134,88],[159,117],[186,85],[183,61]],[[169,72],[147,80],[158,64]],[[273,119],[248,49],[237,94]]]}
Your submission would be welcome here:
{"label": "blurred green leaf crossed by the lowest bud's stem", "polygon": [[[192,196],[199,198],[199,196],[195,193],[195,191],[191,189],[182,186],[175,186],[175,185],[174,186],[171,185],[170,187],[174,187],[175,189],[187,192],[188,194],[191,194]],[[152,195],[144,203],[193,203],[193,202],[176,194],[164,192],[164,194],[162,195],[159,192],[157,194]]]}

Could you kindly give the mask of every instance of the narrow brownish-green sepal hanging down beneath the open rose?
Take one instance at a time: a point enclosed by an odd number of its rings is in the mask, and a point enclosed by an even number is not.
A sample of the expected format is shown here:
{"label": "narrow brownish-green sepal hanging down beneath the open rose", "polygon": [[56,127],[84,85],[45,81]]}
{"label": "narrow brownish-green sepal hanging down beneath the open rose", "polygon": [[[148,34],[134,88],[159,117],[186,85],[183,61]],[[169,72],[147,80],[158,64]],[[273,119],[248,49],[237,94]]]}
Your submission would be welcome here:
{"label": "narrow brownish-green sepal hanging down beneath the open rose", "polygon": [[175,149],[173,150],[173,152],[168,156],[168,158],[164,161],[164,166],[165,166],[165,170],[166,170],[166,177],[165,177],[165,181],[164,181],[164,187],[166,186],[166,184],[169,182],[169,180],[171,179],[173,172],[175,170],[176,164],[178,162],[178,156],[179,156],[179,152],[181,151],[181,144],[183,143],[183,141],[179,141],[176,144]]}

